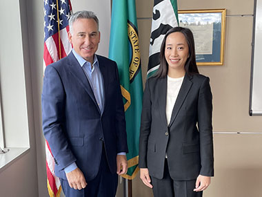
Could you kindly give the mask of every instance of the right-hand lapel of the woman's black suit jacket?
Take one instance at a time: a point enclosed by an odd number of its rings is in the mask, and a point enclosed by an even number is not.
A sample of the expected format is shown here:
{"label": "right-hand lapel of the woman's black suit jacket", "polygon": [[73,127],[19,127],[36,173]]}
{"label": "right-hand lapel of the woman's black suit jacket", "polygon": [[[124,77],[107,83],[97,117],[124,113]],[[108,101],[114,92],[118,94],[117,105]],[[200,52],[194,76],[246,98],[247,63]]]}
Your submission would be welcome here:
{"label": "right-hand lapel of the woman's black suit jacket", "polygon": [[179,113],[179,110],[181,109],[181,106],[185,101],[185,97],[188,95],[188,92],[190,91],[190,88],[192,86],[191,79],[192,76],[188,76],[187,74],[185,74],[182,86],[179,91],[179,95],[177,96],[177,101],[174,104],[174,109],[172,111],[170,124],[168,125],[169,127],[173,124],[174,120],[177,118],[177,114]]}

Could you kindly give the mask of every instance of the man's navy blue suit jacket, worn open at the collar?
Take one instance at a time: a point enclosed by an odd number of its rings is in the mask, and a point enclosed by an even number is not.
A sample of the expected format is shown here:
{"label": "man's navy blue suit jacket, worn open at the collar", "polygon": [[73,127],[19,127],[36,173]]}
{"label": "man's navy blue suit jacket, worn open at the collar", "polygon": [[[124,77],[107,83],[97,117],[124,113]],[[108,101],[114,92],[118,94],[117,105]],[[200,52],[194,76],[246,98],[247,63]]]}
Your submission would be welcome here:
{"label": "man's navy blue suit jacket, worn open at the collar", "polygon": [[103,111],[83,69],[72,52],[46,67],[43,79],[42,118],[55,160],[55,174],[66,179],[64,168],[76,162],[85,180],[99,171],[103,144],[112,173],[119,152],[128,152],[125,115],[117,64],[97,55],[103,77]]}

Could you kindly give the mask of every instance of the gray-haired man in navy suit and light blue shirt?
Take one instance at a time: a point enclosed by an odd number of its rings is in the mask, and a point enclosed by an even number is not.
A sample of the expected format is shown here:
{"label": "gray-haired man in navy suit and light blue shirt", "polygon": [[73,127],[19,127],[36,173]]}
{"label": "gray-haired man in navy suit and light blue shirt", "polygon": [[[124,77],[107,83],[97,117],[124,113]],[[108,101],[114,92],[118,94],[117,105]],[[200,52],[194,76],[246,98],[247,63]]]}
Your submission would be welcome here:
{"label": "gray-haired man in navy suit and light blue shirt", "polygon": [[74,13],[69,26],[72,52],[47,66],[43,79],[43,134],[66,196],[115,196],[128,152],[117,64],[95,55],[93,12]]}

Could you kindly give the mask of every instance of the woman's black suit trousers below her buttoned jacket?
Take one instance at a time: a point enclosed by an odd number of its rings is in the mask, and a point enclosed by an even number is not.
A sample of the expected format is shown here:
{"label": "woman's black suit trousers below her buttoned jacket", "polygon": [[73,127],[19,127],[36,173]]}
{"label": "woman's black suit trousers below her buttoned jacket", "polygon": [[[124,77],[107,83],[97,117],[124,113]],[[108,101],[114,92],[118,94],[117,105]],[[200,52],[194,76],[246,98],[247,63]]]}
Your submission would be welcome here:
{"label": "woman's black suit trousers below her buttoned jacket", "polygon": [[196,180],[173,180],[168,170],[168,161],[165,160],[163,179],[150,177],[153,185],[154,197],[201,197],[203,191],[195,192]]}

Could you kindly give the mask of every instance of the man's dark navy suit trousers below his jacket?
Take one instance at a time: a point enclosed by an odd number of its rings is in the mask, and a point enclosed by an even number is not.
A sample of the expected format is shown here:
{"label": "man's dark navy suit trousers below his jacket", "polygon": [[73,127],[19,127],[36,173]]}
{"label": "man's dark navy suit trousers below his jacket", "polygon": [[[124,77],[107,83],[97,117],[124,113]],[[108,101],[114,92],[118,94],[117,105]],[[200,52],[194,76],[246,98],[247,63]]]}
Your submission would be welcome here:
{"label": "man's dark navy suit trousers below his jacket", "polygon": [[117,193],[118,175],[111,173],[103,147],[99,172],[96,178],[87,182],[88,185],[84,189],[71,188],[68,180],[60,179],[60,181],[66,197],[114,197]]}

